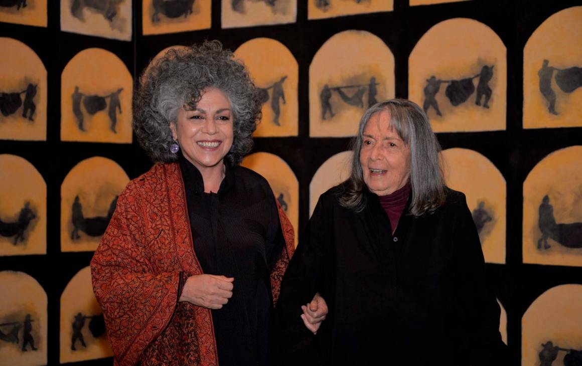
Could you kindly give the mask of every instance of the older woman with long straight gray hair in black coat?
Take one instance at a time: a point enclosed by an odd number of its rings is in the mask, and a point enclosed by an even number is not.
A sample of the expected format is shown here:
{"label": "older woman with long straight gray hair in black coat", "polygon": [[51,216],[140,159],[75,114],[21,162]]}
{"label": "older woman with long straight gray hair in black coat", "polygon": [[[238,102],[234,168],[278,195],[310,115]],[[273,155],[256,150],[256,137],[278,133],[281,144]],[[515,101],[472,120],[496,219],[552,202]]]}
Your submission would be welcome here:
{"label": "older woman with long straight gray hair in black coat", "polygon": [[[445,186],[439,152],[413,102],[364,113],[351,175],[321,195],[283,277],[275,318],[286,364],[505,363],[477,230],[464,194]],[[316,292],[329,313],[313,335],[297,306]]]}

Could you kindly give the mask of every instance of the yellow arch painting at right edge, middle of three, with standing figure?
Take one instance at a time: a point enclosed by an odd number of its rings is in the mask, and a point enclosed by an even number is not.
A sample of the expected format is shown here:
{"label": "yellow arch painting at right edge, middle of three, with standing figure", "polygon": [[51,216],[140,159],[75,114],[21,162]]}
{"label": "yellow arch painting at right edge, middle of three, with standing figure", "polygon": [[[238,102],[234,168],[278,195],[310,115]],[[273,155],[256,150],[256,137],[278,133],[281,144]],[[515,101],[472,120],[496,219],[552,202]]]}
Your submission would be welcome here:
{"label": "yellow arch painting at right edge, middle of three, with standing figure", "polygon": [[582,266],[582,146],[552,152],[523,183],[523,262]]}

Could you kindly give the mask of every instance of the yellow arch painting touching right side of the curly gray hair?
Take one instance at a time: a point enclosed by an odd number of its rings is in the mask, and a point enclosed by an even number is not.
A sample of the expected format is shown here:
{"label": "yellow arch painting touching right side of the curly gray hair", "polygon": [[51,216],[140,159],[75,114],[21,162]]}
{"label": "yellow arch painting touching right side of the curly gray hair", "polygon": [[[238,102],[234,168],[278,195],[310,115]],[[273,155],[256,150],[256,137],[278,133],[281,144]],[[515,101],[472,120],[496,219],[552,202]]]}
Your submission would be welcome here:
{"label": "yellow arch painting touching right side of the curly gray hair", "polygon": [[253,136],[297,136],[299,66],[293,54],[271,38],[244,42],[235,54],[243,59],[264,95],[262,120]]}

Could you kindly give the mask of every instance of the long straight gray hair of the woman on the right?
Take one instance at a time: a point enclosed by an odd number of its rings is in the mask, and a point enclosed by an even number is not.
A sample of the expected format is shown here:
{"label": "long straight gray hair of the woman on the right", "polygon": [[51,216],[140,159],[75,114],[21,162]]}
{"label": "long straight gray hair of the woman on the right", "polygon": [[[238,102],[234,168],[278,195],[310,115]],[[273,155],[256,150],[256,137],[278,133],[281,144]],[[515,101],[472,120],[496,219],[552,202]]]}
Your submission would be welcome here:
{"label": "long straight gray hair of the woman on the right", "polygon": [[414,102],[392,99],[372,105],[360,120],[358,134],[352,140],[352,173],[343,183],[339,203],[343,207],[362,211],[366,205],[363,168],[360,151],[364,141],[364,129],[374,113],[388,111],[390,128],[393,128],[410,147],[410,186],[412,199],[406,214],[422,216],[430,214],[445,202],[445,179],[439,161],[441,145],[432,132],[427,115]]}

